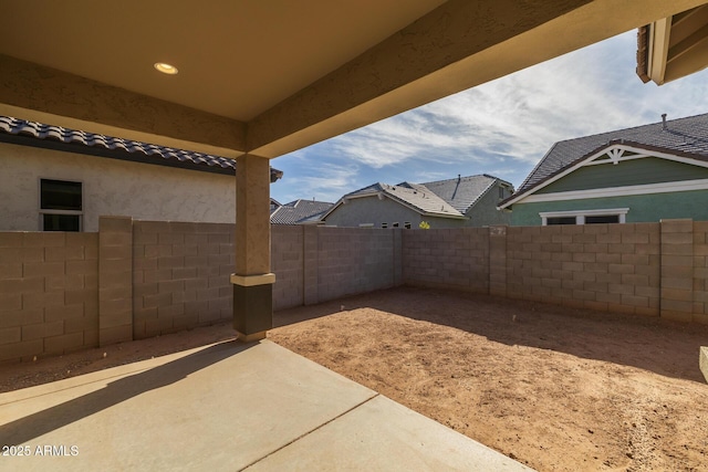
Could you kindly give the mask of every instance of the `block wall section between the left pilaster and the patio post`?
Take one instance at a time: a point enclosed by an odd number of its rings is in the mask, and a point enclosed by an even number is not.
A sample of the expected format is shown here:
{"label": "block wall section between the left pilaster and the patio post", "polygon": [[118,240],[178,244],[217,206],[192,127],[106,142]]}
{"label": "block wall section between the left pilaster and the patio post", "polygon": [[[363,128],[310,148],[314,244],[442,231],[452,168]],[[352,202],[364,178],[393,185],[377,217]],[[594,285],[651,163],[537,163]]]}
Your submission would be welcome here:
{"label": "block wall section between the left pilaster and the patio post", "polygon": [[231,319],[235,225],[133,222],[135,339]]}

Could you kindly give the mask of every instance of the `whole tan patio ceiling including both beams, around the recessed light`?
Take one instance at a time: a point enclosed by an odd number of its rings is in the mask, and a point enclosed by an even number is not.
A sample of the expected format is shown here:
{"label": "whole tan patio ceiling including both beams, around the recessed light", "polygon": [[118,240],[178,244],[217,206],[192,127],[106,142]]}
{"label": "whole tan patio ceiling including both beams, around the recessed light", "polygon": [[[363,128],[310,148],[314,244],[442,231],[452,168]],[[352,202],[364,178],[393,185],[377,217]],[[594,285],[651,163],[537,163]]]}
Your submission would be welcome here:
{"label": "whole tan patio ceiling including both beams, around the recessed light", "polygon": [[0,113],[272,158],[702,3],[0,0]]}

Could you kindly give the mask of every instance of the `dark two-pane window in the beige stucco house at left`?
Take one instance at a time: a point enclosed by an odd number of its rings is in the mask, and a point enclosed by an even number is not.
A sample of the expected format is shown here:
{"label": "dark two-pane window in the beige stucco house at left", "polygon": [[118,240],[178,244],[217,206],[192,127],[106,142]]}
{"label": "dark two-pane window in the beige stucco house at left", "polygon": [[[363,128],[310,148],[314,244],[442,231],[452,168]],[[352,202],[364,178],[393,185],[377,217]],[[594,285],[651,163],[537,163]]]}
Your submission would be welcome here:
{"label": "dark two-pane window in the beige stucco house at left", "polygon": [[81,182],[40,179],[40,229],[81,231],[83,192]]}

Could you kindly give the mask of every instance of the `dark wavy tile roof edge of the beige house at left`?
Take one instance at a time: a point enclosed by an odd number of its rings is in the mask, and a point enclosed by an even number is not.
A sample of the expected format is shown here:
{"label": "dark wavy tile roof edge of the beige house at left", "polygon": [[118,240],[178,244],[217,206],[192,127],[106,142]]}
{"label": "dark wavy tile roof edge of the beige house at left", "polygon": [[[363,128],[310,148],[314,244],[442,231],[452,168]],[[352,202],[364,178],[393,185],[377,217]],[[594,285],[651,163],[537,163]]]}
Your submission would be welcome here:
{"label": "dark wavy tile roof edge of the beige house at left", "polygon": [[[233,175],[236,170],[236,160],[228,157],[69,129],[10,116],[0,116],[0,141],[219,174]],[[280,177],[282,171],[271,168],[271,181]]]}

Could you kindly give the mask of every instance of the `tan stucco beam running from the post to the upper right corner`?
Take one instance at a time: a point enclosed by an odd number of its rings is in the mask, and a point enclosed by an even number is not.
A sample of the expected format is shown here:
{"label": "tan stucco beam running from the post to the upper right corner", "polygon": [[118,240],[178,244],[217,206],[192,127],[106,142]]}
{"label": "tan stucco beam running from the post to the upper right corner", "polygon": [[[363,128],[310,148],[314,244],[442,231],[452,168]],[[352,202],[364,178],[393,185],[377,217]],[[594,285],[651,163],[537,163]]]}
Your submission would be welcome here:
{"label": "tan stucco beam running from the post to the upper right corner", "polygon": [[254,118],[248,148],[277,157],[704,2],[451,0]]}

